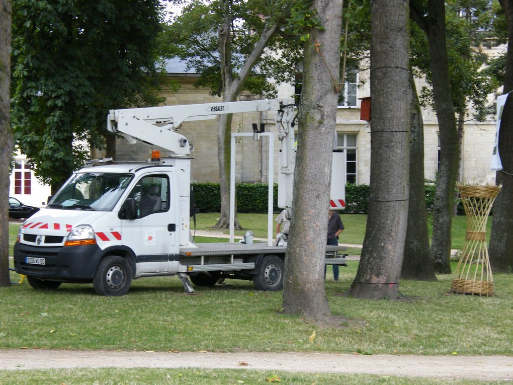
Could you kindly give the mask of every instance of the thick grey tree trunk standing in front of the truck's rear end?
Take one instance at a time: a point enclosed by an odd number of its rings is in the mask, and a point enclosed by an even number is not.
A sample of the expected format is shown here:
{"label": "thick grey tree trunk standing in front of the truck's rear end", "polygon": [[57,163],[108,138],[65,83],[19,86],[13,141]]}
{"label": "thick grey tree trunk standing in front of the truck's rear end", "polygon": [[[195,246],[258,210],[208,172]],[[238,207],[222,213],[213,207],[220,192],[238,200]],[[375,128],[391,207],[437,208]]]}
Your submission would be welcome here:
{"label": "thick grey tree trunk standing in front of the truck's rear end", "polygon": [[339,89],[342,0],[314,0],[322,29],[305,44],[303,93],[285,256],[283,309],[309,319],[330,313],[324,291],[333,131]]}

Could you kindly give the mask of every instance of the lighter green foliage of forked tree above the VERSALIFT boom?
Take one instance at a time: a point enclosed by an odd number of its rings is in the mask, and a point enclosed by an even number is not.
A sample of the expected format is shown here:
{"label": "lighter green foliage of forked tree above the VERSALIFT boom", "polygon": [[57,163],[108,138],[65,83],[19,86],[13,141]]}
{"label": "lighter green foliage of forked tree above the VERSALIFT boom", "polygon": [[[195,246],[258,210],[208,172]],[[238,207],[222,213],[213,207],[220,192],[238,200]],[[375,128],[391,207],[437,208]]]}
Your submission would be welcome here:
{"label": "lighter green foliage of forked tree above the VERSALIFT boom", "polygon": [[[243,85],[243,89],[250,93],[275,97],[275,82],[291,82],[296,65],[301,60],[299,46],[294,44],[299,42],[299,38],[291,34],[285,23],[290,14],[290,6],[290,2],[285,0],[232,1],[226,10],[223,0],[214,0],[208,4],[202,0],[187,2],[182,14],[165,27],[161,36],[163,54],[185,60],[189,68],[200,74],[195,85],[207,87],[212,95],[221,97],[223,85],[218,31],[226,22],[226,12],[229,12],[230,17],[231,66],[234,76],[242,69],[262,31],[271,24],[278,24],[282,31],[267,44],[265,52]],[[291,38],[285,44],[280,36]],[[277,50],[282,54],[276,55]],[[269,82],[269,79],[273,81]]]}

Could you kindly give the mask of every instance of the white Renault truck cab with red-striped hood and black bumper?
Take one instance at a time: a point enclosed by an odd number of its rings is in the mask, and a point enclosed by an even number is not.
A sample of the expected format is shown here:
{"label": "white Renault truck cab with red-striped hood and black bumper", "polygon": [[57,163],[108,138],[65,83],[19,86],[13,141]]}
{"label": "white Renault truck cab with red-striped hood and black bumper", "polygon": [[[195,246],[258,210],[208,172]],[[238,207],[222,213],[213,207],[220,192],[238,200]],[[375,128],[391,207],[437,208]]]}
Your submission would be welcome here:
{"label": "white Renault truck cab with red-striped hood and black bumper", "polygon": [[76,171],[20,228],[16,271],[34,287],[93,282],[102,295],[125,294],[132,278],[176,274],[180,231],[189,232],[176,174],[161,164]]}

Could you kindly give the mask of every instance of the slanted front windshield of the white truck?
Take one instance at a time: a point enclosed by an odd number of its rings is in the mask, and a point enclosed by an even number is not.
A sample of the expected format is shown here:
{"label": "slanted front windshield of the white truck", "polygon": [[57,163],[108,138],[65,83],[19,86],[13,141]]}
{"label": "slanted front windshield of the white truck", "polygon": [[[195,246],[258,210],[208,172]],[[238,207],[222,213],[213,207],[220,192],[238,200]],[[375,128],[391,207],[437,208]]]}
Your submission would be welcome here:
{"label": "slanted front windshield of the white truck", "polygon": [[75,174],[48,204],[52,208],[110,211],[127,188],[132,174]]}

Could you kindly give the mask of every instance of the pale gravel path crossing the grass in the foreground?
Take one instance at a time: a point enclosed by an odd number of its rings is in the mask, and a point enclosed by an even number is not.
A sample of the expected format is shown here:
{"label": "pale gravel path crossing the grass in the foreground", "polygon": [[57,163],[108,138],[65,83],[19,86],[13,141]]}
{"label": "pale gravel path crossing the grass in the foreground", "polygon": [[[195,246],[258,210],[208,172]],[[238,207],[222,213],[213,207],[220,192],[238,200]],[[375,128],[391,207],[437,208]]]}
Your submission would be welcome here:
{"label": "pale gravel path crossing the grass in the foreground", "polygon": [[193,367],[513,381],[513,357],[508,356],[0,350],[0,370],[81,367]]}

